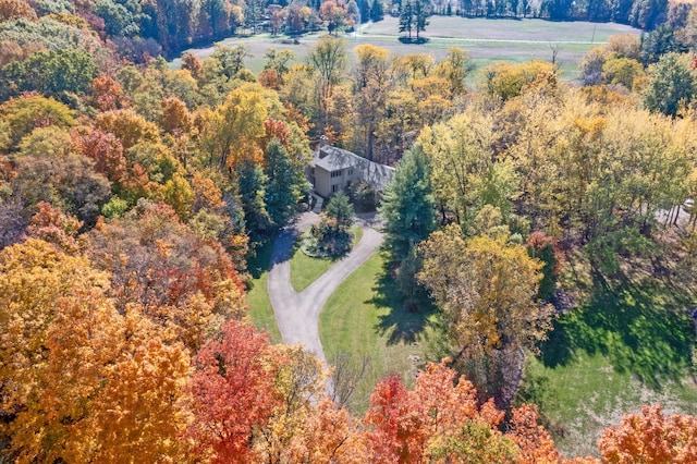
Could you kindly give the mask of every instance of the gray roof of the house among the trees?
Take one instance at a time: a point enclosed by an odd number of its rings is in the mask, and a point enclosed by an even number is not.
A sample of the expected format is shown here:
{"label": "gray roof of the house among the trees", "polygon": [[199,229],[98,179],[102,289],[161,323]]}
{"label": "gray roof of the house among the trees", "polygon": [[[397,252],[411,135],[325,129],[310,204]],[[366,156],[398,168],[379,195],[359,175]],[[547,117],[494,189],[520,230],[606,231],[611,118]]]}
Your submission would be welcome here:
{"label": "gray roof of the house among the trees", "polygon": [[362,180],[379,192],[384,191],[384,187],[392,180],[392,174],[394,174],[394,168],[369,161],[356,154],[331,145],[326,145],[315,152],[315,166],[330,172],[354,168],[359,171]]}

